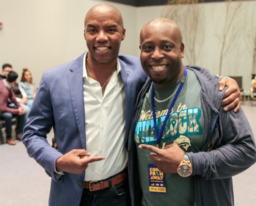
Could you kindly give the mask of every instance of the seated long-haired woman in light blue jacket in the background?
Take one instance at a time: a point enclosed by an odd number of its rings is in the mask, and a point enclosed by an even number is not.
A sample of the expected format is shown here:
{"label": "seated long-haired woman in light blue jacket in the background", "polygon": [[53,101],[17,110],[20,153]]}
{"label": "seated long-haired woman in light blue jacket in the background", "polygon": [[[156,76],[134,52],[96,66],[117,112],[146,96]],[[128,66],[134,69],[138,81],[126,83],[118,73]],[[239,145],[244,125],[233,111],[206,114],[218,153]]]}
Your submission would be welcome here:
{"label": "seated long-haired woman in light blue jacket in the background", "polygon": [[27,105],[31,108],[33,100],[36,96],[37,88],[36,84],[32,81],[31,72],[27,68],[23,68],[20,87],[27,94]]}

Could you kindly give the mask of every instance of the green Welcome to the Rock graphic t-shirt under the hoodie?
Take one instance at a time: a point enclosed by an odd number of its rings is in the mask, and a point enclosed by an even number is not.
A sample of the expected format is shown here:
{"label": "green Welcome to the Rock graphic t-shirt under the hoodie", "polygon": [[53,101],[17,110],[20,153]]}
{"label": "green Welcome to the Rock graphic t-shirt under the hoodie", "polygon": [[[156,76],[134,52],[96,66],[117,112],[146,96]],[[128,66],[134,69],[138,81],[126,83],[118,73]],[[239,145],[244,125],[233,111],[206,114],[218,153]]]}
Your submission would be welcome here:
{"label": "green Welcome to the Rock graphic t-shirt under the hoodie", "polygon": [[[178,87],[180,80],[181,78],[168,88],[158,89],[155,87],[155,97],[158,100],[169,97]],[[204,117],[200,93],[201,85],[197,76],[195,76],[193,71],[188,70],[183,88],[163,129],[159,148],[164,148],[175,142],[185,152],[199,152],[202,149]],[[149,89],[144,98],[134,136],[134,141],[137,144],[140,183],[143,191],[142,204],[147,206],[192,206],[194,201],[194,177],[180,177],[177,173],[162,174],[159,169],[152,167],[153,161],[149,158],[150,151],[138,148],[140,144],[153,146],[157,144],[151,94],[152,88]],[[167,115],[173,98],[164,102],[155,101],[158,131],[160,131],[160,127]],[[150,176],[149,174],[154,175]],[[152,179],[155,180],[152,181]],[[164,182],[162,182],[162,179],[164,179]],[[157,188],[163,186],[164,189],[161,188],[159,189],[160,192],[154,192],[152,185]]]}

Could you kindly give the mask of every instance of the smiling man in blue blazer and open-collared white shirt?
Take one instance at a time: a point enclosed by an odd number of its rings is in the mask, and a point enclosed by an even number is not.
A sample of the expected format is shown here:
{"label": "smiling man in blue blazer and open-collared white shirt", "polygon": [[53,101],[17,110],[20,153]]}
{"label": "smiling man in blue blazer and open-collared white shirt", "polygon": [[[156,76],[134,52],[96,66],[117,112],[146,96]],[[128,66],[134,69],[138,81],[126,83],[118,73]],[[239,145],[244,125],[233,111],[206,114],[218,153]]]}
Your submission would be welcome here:
{"label": "smiling man in blue blazer and open-collared white shirt", "polygon": [[84,26],[88,52],[43,73],[22,142],[52,177],[49,205],[130,205],[126,143],[146,74],[139,58],[118,56],[115,7],[91,8]]}

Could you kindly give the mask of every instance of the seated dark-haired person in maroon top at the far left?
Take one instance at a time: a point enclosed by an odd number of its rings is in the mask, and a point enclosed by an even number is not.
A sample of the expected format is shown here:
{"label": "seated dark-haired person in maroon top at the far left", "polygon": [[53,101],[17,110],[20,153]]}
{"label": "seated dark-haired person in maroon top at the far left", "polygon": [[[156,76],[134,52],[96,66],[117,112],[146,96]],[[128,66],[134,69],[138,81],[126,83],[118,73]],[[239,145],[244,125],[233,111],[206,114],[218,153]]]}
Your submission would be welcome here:
{"label": "seated dark-haired person in maroon top at the far left", "polygon": [[[23,128],[25,126],[24,114],[26,111],[20,106],[11,89],[11,86],[16,83],[17,78],[18,74],[10,71],[6,79],[0,80],[0,118],[5,120],[6,143],[9,145],[16,144],[11,136],[13,115],[17,115],[16,140],[21,140]],[[8,107],[8,99],[10,99],[17,108]]]}

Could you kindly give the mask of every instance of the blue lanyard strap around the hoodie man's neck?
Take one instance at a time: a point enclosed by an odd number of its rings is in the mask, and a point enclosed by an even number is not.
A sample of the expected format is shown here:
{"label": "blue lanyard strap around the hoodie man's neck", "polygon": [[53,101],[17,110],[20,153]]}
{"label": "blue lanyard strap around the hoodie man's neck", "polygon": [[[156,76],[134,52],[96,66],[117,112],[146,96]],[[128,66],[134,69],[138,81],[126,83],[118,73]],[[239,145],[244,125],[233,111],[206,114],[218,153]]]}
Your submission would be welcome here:
{"label": "blue lanyard strap around the hoodie man's neck", "polygon": [[172,108],[175,104],[175,101],[180,93],[180,90],[182,90],[182,87],[183,87],[183,84],[185,82],[185,79],[186,79],[186,76],[187,76],[187,68],[184,66],[184,74],[183,74],[183,77],[182,77],[182,81],[180,82],[180,86],[178,88],[178,91],[177,93],[175,94],[174,96],[174,99],[172,100],[172,104],[168,110],[168,113],[167,115],[165,116],[164,118],[164,121],[163,121],[163,124],[160,128],[160,132],[158,132],[158,128],[157,128],[157,122],[156,122],[156,110],[155,110],[155,100],[154,100],[154,96],[155,96],[155,88],[154,88],[154,83],[152,83],[152,111],[153,111],[153,119],[154,119],[154,128],[155,128],[155,132],[156,132],[156,135],[157,135],[157,148],[159,146],[159,142],[160,142],[160,138],[161,138],[161,134],[163,132],[163,128],[165,127],[165,124],[167,122],[167,119],[172,111]]}

